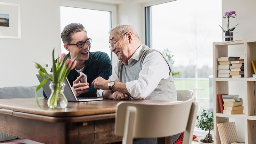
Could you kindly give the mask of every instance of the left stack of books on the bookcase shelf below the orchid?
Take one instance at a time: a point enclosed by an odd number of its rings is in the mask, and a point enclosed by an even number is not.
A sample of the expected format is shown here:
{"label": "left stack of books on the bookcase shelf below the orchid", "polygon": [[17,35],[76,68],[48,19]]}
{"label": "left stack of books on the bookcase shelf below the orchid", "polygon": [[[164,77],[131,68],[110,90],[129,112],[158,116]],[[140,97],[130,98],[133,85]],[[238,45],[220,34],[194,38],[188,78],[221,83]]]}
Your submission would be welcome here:
{"label": "left stack of books on the bookcase shelf below the orchid", "polygon": [[230,62],[240,60],[240,57],[220,57],[217,60],[219,61],[218,77],[230,77]]}

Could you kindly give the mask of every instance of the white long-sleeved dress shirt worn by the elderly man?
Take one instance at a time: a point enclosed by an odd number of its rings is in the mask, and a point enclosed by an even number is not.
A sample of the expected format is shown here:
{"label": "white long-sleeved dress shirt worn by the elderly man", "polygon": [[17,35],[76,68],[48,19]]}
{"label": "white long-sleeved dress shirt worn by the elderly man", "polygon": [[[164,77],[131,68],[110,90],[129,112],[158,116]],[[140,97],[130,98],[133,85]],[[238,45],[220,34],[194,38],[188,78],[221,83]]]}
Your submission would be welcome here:
{"label": "white long-sleeved dress shirt worn by the elderly man", "polygon": [[[133,60],[139,60],[141,55],[142,44],[134,52],[131,59],[128,60],[128,66]],[[169,77],[170,69],[167,62],[159,52],[148,53],[142,63],[142,69],[139,73],[139,79],[126,82],[125,86],[134,99],[145,99],[155,90],[161,79]],[[109,81],[118,81],[118,66],[115,67]],[[97,96],[103,98],[102,92],[97,90]]]}

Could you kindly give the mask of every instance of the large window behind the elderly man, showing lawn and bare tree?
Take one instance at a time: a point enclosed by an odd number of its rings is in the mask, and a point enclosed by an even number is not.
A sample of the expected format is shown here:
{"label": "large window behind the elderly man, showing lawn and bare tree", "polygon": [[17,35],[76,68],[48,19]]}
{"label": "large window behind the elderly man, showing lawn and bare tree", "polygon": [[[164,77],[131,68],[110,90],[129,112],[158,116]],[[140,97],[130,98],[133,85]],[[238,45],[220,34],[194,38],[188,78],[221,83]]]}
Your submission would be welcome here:
{"label": "large window behind the elderly man, showing lawn and bare tree", "polygon": [[212,43],[222,41],[221,0],[153,5],[145,8],[145,17],[146,44],[173,55],[172,70],[180,72],[176,89],[194,89],[198,111],[213,110]]}

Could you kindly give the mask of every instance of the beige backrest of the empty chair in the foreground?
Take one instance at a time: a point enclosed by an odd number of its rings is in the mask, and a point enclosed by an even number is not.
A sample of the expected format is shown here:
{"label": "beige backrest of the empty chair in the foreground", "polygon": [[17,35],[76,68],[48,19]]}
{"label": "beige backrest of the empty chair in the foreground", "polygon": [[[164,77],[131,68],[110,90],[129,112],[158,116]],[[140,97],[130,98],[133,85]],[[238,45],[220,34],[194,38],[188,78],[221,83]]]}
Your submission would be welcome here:
{"label": "beige backrest of the empty chair in the foreground", "polygon": [[183,143],[190,144],[197,107],[195,98],[179,103],[121,101],[116,106],[115,134],[132,144],[134,137],[167,137],[185,131]]}

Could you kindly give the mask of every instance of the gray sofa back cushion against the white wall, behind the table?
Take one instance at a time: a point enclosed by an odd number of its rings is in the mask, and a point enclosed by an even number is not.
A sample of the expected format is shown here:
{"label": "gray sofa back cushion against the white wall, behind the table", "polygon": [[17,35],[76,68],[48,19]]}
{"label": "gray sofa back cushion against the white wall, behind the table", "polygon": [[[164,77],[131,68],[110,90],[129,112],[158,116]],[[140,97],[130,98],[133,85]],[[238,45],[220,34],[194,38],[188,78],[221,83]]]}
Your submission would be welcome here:
{"label": "gray sofa back cushion against the white wall, behind the table", "polygon": [[[36,92],[35,86],[14,86],[0,88],[0,99],[12,99],[12,98],[34,98]],[[43,96],[43,89],[37,91],[38,97]]]}

